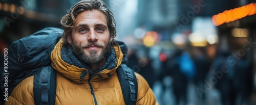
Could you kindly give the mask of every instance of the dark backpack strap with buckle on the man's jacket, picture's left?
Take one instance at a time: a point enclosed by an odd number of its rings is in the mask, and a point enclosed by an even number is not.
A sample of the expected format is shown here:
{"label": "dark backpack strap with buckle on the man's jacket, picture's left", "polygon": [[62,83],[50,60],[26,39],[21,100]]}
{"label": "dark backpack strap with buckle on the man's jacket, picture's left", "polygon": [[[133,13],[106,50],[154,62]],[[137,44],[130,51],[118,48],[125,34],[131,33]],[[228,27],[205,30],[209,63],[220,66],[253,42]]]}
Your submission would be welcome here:
{"label": "dark backpack strap with buckle on the man's jacket, picture's left", "polygon": [[56,95],[56,71],[52,66],[41,68],[34,75],[35,104],[54,104]]}

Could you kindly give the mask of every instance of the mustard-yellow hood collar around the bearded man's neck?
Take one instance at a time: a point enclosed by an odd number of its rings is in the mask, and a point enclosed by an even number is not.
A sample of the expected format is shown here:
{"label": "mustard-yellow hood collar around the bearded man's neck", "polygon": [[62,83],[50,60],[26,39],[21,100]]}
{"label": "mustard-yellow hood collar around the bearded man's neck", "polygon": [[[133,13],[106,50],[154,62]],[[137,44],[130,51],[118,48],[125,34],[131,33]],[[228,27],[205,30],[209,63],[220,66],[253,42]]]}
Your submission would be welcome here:
{"label": "mustard-yellow hood collar around the bearded man's neck", "polygon": [[[74,65],[70,65],[61,59],[61,48],[63,47],[62,43],[63,43],[63,40],[60,39],[60,41],[56,44],[56,46],[52,50],[52,53],[51,53],[52,67],[61,75],[69,78],[71,81],[75,83],[83,84],[88,82],[89,79],[91,81],[100,81],[104,78],[109,78],[116,72],[116,69],[122,63],[123,53],[121,51],[121,48],[119,47],[119,45],[113,45],[113,48],[116,54],[115,58],[117,60],[116,66],[112,69],[104,69],[100,72],[93,74],[91,77],[89,77],[89,70],[87,68],[79,68]],[[85,76],[83,78],[80,78],[80,75],[85,75]]]}

